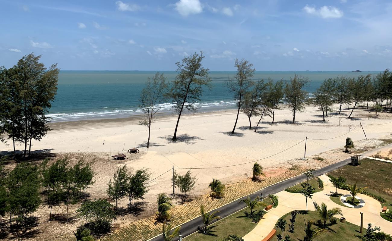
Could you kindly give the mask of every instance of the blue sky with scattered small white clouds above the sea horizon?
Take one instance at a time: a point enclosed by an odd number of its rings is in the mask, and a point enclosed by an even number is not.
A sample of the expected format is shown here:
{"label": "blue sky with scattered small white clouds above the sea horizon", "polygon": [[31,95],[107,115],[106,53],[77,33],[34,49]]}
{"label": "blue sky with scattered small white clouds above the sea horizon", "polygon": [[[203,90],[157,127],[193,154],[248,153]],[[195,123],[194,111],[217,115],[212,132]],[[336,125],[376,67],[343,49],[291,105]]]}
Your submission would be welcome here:
{"label": "blue sky with scattered small white clouds above the sea horizon", "polygon": [[176,70],[203,51],[232,71],[392,68],[390,0],[0,0],[0,66],[42,54],[62,70]]}

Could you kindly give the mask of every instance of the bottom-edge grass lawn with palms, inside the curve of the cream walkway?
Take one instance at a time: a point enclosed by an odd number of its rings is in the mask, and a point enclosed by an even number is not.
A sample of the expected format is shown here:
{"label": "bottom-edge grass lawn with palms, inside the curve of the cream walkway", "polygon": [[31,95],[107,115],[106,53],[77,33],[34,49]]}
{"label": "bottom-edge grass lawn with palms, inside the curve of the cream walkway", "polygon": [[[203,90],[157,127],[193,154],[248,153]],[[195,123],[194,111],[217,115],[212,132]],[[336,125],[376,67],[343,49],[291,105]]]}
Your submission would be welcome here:
{"label": "bottom-edge grass lawn with palms, inside the curve of the cream walkway", "polygon": [[[283,233],[283,235],[284,236],[289,235],[291,240],[297,241],[299,239],[302,240],[303,237],[305,236],[304,218],[306,221],[310,220],[316,222],[319,219],[319,216],[318,216],[318,212],[315,211],[309,211],[308,214],[305,215],[297,214],[296,221],[294,223],[294,233],[289,232],[290,218],[291,218],[290,213],[285,214],[285,216],[282,217],[282,219],[287,221],[286,230]],[[317,228],[317,226],[314,225],[313,227]],[[356,235],[360,235],[359,226],[357,225],[348,222],[340,223],[339,220],[337,220],[337,223],[331,225],[329,228],[332,229],[332,232],[323,232],[315,240],[320,240],[320,241],[321,240],[328,240],[328,241],[340,241],[340,240],[358,241],[359,240],[357,237],[355,237]],[[275,229],[276,229],[276,234],[282,235],[282,231],[279,228],[275,226]],[[364,228],[364,231],[365,230],[366,228]],[[271,240],[276,241],[278,239],[276,238],[276,236],[274,236]]]}

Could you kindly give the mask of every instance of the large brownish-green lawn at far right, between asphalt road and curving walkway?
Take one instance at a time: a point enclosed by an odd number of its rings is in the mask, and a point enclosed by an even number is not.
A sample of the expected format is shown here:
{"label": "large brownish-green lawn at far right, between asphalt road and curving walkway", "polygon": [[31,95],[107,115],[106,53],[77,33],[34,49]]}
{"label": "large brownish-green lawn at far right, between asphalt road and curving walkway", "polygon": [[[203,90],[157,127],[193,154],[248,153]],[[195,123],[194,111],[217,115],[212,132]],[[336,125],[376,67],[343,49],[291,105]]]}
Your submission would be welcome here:
{"label": "large brownish-green lawn at far right, between asphalt road and curving walkway", "polygon": [[[354,185],[358,181],[357,186],[368,187],[367,192],[381,196],[385,199],[385,203],[381,203],[382,206],[387,206],[388,209],[392,210],[392,163],[384,161],[375,161],[371,159],[363,159],[360,161],[360,165],[354,167],[352,165],[345,165],[339,169],[336,169],[328,175],[332,175],[335,178],[343,176],[347,179],[347,183]],[[388,177],[387,177],[388,176]],[[334,201],[331,198],[332,201]],[[334,201],[335,202],[335,201]],[[337,203],[337,202],[335,202]],[[381,217],[385,217],[385,214],[380,213]],[[389,219],[388,221],[391,221]]]}

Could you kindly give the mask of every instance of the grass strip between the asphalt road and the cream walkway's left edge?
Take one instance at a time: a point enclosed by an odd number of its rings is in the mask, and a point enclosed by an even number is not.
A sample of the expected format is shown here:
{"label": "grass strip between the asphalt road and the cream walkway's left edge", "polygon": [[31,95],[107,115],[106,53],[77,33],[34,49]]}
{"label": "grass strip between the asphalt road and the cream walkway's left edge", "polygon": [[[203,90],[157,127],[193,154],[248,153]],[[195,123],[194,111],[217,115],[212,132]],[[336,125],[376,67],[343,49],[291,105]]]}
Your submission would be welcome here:
{"label": "grass strip between the asphalt road and the cream walkway's left edge", "polygon": [[[263,201],[267,203],[267,205],[271,204],[270,198],[264,198]],[[276,207],[277,205],[278,204],[274,205],[274,207]],[[263,208],[261,207],[258,210],[263,210]],[[245,236],[245,234],[252,231],[252,229],[257,225],[256,223],[252,223],[252,219],[245,217],[245,212],[249,213],[249,208],[240,210],[230,215],[229,217],[221,219],[220,221],[210,225],[209,227],[213,227],[211,230],[211,234],[212,234],[211,236],[201,234],[201,233],[195,233],[184,238],[184,240],[185,241],[216,241],[217,239],[222,239],[224,237],[229,236],[230,234],[235,234],[239,237],[243,237]],[[219,216],[219,214],[217,215]]]}

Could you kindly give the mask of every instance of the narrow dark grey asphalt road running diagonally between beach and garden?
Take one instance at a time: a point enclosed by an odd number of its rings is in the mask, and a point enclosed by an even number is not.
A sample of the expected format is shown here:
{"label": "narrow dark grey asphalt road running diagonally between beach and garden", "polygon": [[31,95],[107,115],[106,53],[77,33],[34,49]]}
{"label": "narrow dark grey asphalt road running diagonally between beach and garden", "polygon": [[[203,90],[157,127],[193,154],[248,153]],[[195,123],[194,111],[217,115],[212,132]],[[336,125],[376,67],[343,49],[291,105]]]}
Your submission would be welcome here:
{"label": "narrow dark grey asphalt road running diagonally between beach and garden", "polygon": [[[376,151],[378,149],[385,148],[384,147],[379,147],[377,149],[369,150],[369,151]],[[363,153],[366,155],[367,152]],[[334,163],[332,165],[329,165],[327,167],[323,167],[321,169],[315,170],[313,172],[314,176],[321,176],[323,174],[326,174],[328,172],[331,172],[335,169],[338,169],[339,167],[343,167],[344,165],[347,165],[348,163],[351,163],[351,158],[347,158],[343,161],[339,161],[337,163]],[[276,194],[280,191],[285,190],[286,188],[292,187],[298,183],[301,183],[303,181],[306,181],[306,176],[305,175],[299,175],[295,176],[289,179],[286,179],[284,181],[281,181],[279,183],[273,184],[269,187],[263,188],[261,190],[258,190],[257,192],[254,192],[253,194],[250,194],[249,197],[250,199],[254,199],[256,197],[259,197],[261,194],[263,194],[264,197],[267,197],[268,194]],[[220,208],[215,209],[214,211],[219,211],[219,216],[221,217],[227,217],[230,216],[231,214],[245,208],[246,205],[243,202],[239,202],[239,200],[233,201],[231,203],[228,203]],[[214,221],[216,222],[216,221]],[[196,217],[195,219],[192,219],[183,225],[181,225],[181,234],[182,238],[193,234],[194,232],[198,231],[198,227],[203,227],[203,222],[201,221],[201,217]],[[149,241],[163,241],[162,235],[153,237],[152,239],[149,239]],[[174,239],[178,240],[178,238]]]}

